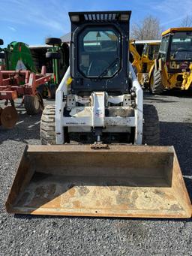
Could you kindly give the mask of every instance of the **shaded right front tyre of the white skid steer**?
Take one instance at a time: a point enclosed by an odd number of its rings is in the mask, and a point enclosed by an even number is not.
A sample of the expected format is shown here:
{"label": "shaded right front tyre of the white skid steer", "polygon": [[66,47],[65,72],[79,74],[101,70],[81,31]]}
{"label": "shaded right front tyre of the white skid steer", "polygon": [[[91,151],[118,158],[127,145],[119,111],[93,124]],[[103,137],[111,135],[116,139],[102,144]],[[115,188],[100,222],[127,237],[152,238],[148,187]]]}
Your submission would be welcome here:
{"label": "shaded right front tyre of the white skid steer", "polygon": [[160,128],[159,117],[156,107],[153,105],[143,105],[144,124],[142,128],[142,144],[159,145]]}

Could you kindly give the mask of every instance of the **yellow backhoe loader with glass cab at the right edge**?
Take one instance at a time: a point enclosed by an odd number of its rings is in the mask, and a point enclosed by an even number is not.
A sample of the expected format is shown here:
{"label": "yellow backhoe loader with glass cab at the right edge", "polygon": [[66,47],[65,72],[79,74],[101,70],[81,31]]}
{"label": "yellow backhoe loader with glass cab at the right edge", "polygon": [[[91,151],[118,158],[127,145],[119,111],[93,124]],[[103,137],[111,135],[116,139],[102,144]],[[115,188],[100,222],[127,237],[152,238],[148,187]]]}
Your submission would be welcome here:
{"label": "yellow backhoe loader with glass cab at the right edge", "polygon": [[187,90],[192,86],[192,28],[173,28],[162,33],[160,50],[149,71],[149,89]]}

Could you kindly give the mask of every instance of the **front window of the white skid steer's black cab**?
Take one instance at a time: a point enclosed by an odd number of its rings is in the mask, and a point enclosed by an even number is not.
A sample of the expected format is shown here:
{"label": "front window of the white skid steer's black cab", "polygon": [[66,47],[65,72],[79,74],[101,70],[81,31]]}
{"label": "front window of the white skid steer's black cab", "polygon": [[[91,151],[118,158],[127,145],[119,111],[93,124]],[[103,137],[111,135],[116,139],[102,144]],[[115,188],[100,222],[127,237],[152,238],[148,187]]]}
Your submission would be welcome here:
{"label": "front window of the white skid steer's black cab", "polygon": [[85,77],[113,77],[120,69],[120,35],[115,29],[87,28],[79,36],[79,70]]}

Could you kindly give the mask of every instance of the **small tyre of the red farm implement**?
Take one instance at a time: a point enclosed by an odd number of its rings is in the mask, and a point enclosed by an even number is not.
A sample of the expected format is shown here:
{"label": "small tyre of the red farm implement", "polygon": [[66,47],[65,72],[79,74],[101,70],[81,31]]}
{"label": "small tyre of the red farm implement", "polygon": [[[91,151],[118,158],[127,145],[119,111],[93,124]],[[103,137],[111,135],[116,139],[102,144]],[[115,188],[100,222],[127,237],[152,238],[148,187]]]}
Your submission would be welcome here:
{"label": "small tyre of the red farm implement", "polygon": [[43,98],[38,93],[37,95],[25,95],[24,105],[26,112],[30,116],[37,115],[43,110]]}

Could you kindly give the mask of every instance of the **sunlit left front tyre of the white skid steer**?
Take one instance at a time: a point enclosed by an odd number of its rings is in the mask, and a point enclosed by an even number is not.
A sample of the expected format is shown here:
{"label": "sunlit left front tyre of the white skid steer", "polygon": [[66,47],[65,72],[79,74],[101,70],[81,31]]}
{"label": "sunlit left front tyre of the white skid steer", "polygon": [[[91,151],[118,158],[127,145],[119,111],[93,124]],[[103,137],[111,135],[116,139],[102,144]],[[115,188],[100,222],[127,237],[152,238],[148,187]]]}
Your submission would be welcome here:
{"label": "sunlit left front tyre of the white skid steer", "polygon": [[40,119],[40,141],[42,145],[56,144],[55,106],[47,105]]}

